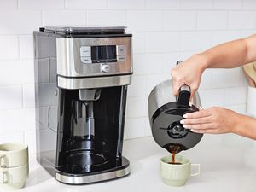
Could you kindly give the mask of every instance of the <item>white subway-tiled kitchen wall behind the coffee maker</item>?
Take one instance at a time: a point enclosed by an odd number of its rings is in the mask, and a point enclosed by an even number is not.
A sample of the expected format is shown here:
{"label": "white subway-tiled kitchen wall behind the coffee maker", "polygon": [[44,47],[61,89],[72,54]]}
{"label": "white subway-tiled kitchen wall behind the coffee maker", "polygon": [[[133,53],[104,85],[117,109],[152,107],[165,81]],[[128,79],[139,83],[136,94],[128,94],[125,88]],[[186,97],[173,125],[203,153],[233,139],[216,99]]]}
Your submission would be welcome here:
{"label": "white subway-tiled kitchen wall behind the coffee maker", "polygon": [[[128,26],[134,76],[125,138],[150,135],[147,99],[170,79],[177,60],[255,33],[254,0],[0,0],[0,143],[29,143],[35,152],[32,31],[49,25]],[[171,90],[170,90],[171,91]],[[211,69],[201,82],[204,108],[245,112],[241,68]]]}

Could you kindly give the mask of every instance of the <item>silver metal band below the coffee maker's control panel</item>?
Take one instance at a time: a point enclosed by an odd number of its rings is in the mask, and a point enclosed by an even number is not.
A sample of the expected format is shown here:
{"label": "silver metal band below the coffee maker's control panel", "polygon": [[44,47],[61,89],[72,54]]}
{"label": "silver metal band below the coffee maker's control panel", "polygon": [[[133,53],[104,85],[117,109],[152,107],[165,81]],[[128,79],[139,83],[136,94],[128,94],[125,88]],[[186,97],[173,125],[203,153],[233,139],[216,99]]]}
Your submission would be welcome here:
{"label": "silver metal band below the coffee maker's control panel", "polygon": [[131,84],[131,75],[77,79],[58,76],[58,87],[69,90],[113,87],[126,84]]}

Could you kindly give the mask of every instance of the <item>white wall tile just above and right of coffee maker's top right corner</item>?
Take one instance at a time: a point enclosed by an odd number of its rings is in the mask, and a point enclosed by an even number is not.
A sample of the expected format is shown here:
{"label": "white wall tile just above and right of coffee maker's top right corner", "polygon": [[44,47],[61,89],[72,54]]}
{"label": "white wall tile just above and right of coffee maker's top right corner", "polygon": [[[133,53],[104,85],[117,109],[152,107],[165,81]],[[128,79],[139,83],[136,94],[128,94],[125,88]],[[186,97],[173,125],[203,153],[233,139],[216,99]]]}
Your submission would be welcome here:
{"label": "white wall tile just above and right of coffee maker's top right corner", "polygon": [[155,10],[129,10],[127,26],[132,32],[160,31],[163,28],[163,12]]}

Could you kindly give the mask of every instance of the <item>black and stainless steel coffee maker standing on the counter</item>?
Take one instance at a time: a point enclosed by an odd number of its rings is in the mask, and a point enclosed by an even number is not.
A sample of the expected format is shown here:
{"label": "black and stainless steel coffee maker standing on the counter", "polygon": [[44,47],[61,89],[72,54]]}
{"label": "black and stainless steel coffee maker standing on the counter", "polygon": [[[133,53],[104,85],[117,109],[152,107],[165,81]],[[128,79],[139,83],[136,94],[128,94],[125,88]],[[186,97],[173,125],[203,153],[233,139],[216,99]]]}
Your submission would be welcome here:
{"label": "black and stainless steel coffee maker standing on the counter", "polygon": [[45,26],[33,36],[38,162],[61,183],[129,175],[122,145],[131,34]]}

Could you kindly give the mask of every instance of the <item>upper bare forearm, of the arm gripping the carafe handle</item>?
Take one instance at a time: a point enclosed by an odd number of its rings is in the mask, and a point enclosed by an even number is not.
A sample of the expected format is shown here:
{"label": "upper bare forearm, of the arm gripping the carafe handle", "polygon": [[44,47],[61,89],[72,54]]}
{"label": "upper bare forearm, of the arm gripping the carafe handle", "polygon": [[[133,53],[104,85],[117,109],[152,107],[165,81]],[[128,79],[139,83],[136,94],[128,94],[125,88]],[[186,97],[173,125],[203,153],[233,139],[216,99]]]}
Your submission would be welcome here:
{"label": "upper bare forearm, of the arm gripping the carafe handle", "polygon": [[233,68],[256,60],[256,35],[219,44],[196,56],[201,57],[201,67]]}

